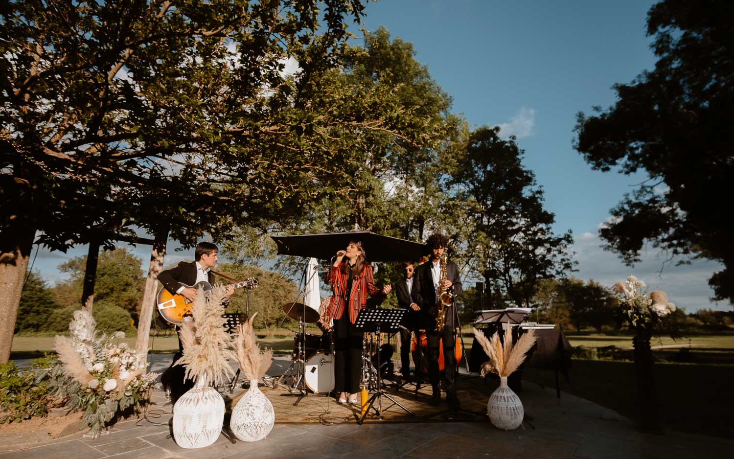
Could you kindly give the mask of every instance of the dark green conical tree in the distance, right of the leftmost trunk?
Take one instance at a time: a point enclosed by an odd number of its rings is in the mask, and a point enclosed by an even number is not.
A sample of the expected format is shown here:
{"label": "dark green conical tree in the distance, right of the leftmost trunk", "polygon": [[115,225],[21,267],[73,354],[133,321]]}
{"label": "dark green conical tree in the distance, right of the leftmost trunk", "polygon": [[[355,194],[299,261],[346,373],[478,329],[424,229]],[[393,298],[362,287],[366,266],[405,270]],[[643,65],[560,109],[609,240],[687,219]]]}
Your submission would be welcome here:
{"label": "dark green conical tree in the distance, right of the leftmost trunk", "polygon": [[46,281],[37,273],[30,272],[18,306],[15,333],[43,330],[58,308]]}

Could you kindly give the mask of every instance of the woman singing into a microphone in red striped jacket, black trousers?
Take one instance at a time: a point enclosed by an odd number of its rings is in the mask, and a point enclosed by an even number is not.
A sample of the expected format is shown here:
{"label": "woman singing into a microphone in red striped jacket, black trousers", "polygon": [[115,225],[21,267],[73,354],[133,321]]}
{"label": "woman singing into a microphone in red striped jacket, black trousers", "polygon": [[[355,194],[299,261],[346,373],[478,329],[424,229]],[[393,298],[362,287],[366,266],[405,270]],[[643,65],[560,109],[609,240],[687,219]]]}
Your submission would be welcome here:
{"label": "woman singing into a microphone in red striped jacket, black trousers", "polygon": [[326,317],[319,321],[328,328],[333,319],[334,389],[340,403],[354,404],[359,398],[363,332],[355,327],[357,314],[366,308],[368,294],[384,297],[392,289],[389,285],[382,289],[374,285],[372,267],[365,259],[365,249],[359,241],[349,242],[346,250],[338,250],[327,278],[334,294]]}

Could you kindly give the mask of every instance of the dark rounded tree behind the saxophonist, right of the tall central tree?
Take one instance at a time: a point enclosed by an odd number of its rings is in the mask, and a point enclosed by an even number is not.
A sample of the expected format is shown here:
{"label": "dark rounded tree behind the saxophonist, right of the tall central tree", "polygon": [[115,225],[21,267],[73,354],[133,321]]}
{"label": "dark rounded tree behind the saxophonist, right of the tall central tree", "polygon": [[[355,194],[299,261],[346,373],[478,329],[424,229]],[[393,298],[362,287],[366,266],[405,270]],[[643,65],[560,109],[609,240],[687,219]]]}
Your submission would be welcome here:
{"label": "dark rounded tree behind the saxophonist, right of the tall central tree", "polygon": [[[491,284],[499,281],[515,305],[527,306],[540,279],[573,270],[568,256],[571,231],[556,236],[555,216],[543,209],[535,175],[522,165],[515,137],[503,140],[499,128],[482,127],[451,170],[446,214],[465,215],[454,228],[465,242],[470,270]],[[462,211],[459,208],[463,208]]]}

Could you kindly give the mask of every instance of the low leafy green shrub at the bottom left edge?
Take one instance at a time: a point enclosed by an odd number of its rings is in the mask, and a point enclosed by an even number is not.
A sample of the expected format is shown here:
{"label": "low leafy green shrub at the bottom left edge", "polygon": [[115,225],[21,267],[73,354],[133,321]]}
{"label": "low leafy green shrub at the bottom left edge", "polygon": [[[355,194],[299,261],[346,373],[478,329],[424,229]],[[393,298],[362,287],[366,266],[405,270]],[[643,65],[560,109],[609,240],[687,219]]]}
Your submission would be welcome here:
{"label": "low leafy green shrub at the bottom left edge", "polygon": [[37,381],[35,369],[46,368],[48,359],[31,362],[31,369],[18,369],[15,363],[0,364],[0,424],[46,416],[54,405],[51,388]]}

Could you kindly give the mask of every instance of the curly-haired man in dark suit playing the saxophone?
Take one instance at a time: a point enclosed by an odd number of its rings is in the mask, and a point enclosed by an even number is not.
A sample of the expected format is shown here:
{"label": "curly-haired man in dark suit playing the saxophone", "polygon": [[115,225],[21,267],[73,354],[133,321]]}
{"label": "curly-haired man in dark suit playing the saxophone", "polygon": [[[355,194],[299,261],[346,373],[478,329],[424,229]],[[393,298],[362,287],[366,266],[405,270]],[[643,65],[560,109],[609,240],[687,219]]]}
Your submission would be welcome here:
{"label": "curly-haired man in dark suit playing the saxophone", "polygon": [[[418,306],[421,307],[421,313],[424,314],[423,322],[426,324],[428,376],[433,388],[431,403],[432,405],[438,405],[441,400],[438,355],[439,346],[443,345],[443,358],[446,364],[444,380],[446,383],[446,400],[451,408],[459,408],[455,383],[457,361],[454,356],[454,343],[456,342],[454,326],[459,322],[456,318],[456,308],[451,297],[453,296],[455,299],[461,294],[462,283],[457,265],[453,261],[446,261],[445,264],[442,261],[447,243],[448,238],[439,233],[432,234],[426,240],[426,245],[430,250],[429,261],[416,268],[413,289],[418,291],[415,300],[417,300]],[[440,308],[442,297],[444,307]],[[442,309],[443,326],[437,328],[437,314]],[[440,323],[440,320],[438,322]]]}

